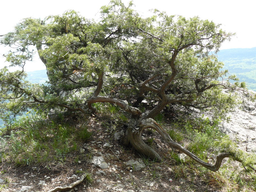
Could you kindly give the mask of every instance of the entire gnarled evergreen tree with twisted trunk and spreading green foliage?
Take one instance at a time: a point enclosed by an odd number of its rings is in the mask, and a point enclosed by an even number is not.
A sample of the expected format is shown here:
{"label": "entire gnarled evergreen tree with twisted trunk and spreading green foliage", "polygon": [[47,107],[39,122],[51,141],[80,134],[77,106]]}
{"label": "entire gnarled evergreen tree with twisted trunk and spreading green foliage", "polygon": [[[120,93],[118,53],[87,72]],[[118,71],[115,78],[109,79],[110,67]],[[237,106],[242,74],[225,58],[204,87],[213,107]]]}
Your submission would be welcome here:
{"label": "entire gnarled evergreen tree with twisted trunk and spreading green foliage", "polygon": [[[21,68],[0,71],[2,109],[14,114],[28,108],[83,114],[96,113],[94,103],[112,103],[131,114],[124,144],[161,159],[140,137],[144,129],[153,128],[171,146],[218,170],[230,153],[220,154],[215,165],[205,163],[174,142],[152,118],[163,110],[173,117],[183,112],[217,117],[232,107],[234,93],[222,89],[243,90],[245,85],[229,83],[237,79],[221,70],[216,52],[233,34],[199,17],[154,10],[153,16],[142,18],[132,6],[111,1],[101,8],[97,22],[67,11],[17,24],[1,39],[12,48],[4,55],[10,66]],[[24,80],[24,65],[36,53],[46,66],[47,84]]]}

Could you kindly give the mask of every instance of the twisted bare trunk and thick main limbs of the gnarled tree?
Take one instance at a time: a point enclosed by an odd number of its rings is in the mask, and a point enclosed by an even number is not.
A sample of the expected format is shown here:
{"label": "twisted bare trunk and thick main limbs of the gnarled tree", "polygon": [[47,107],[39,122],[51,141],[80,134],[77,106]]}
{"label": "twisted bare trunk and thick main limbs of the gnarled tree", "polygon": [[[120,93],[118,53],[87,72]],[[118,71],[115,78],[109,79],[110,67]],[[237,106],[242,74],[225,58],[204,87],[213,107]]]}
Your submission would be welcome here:
{"label": "twisted bare trunk and thick main limbs of the gnarled tree", "polygon": [[[173,73],[166,82],[171,81],[175,76],[176,69],[175,68],[172,68],[172,69],[173,69]],[[182,147],[179,143],[173,141],[169,136],[169,134],[159,124],[157,124],[155,120],[150,118],[159,114],[168,103],[172,102],[172,100],[168,99],[167,95],[164,93],[164,87],[166,86],[167,83],[164,83],[164,85],[162,86],[159,92],[162,97],[162,100],[160,100],[159,103],[156,105],[156,107],[153,108],[151,111],[149,111],[148,113],[142,114],[138,108],[131,107],[130,105],[128,105],[128,102],[126,100],[119,100],[119,99],[114,99],[110,97],[99,96],[100,90],[102,89],[102,84],[103,84],[103,72],[99,73],[98,76],[99,76],[98,86],[93,96],[87,100],[88,108],[94,113],[96,111],[96,108],[92,107],[92,103],[108,102],[108,103],[118,105],[119,107],[123,108],[126,112],[131,114],[130,123],[123,138],[124,145],[128,146],[129,144],[131,144],[135,150],[137,150],[140,154],[144,155],[145,157],[148,157],[151,160],[161,161],[162,158],[159,156],[159,154],[154,149],[152,149],[147,144],[145,144],[141,138],[141,134],[143,130],[147,128],[151,128],[156,130],[156,132],[158,132],[163,137],[164,141],[169,146],[179,149],[182,153],[185,153],[190,158],[195,160],[197,163],[201,164],[202,166],[212,171],[217,171],[220,168],[221,162],[225,157],[232,156],[232,154],[230,153],[220,153],[216,158],[215,164],[206,163],[202,161],[200,158],[198,158],[195,154],[191,153],[186,148]],[[149,78],[148,81],[153,78],[154,76]],[[145,85],[146,83],[147,81],[145,81],[143,84]],[[143,84],[141,87],[144,86]],[[142,93],[143,92],[141,92],[141,94]],[[181,101],[182,100],[176,101],[176,102],[181,102]]]}

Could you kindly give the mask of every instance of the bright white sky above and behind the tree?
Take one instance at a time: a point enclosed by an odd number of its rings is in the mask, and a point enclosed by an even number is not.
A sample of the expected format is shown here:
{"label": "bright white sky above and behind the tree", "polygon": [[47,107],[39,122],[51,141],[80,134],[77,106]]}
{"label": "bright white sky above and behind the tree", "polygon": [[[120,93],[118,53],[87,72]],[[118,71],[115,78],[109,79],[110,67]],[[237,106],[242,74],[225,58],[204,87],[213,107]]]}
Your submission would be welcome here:
{"label": "bright white sky above and behind the tree", "polygon": [[[130,0],[123,0],[127,4]],[[96,13],[109,0],[3,0],[0,3],[0,35],[12,31],[20,20],[27,17],[45,18],[48,15],[62,14],[67,10],[75,10],[90,19],[97,19]],[[256,47],[256,11],[255,0],[133,0],[135,10],[147,17],[150,9],[159,9],[169,15],[182,15],[187,18],[199,16],[201,19],[221,23],[222,29],[236,33],[230,42],[225,42],[221,49]],[[2,55],[8,49],[0,47],[0,68],[6,65]],[[37,55],[36,55],[37,56]],[[26,63],[26,71],[45,69],[44,65],[35,58]]]}

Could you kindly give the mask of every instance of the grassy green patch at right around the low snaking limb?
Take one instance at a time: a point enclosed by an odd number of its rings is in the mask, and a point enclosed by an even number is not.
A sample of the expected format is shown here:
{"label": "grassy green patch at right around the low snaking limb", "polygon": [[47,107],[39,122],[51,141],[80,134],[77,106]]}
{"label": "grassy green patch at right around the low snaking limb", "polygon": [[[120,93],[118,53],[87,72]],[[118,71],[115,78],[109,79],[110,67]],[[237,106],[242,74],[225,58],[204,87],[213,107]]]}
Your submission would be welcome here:
{"label": "grassy green patch at right around the low snaking limb", "polygon": [[[177,162],[177,170],[174,171],[176,174],[175,177],[186,177],[187,173],[184,174],[185,170],[189,172],[198,170],[196,175],[199,175],[201,180],[209,185],[214,185],[219,188],[225,186],[229,188],[229,191],[254,191],[256,189],[255,175],[249,175],[248,171],[250,168],[247,165],[254,164],[255,166],[255,154],[250,155],[239,150],[236,143],[231,141],[227,135],[220,132],[218,124],[218,119],[211,121],[205,117],[181,119],[180,121],[171,124],[171,127],[174,130],[180,129],[183,132],[183,136],[191,140],[187,149],[205,162],[214,164],[216,159],[212,158],[212,156],[216,156],[221,152],[229,152],[232,154],[232,157],[228,159],[228,163],[222,164],[220,170],[216,173],[211,172],[202,166],[195,166],[196,163],[192,159],[188,159],[186,164],[182,164],[178,155],[171,152],[171,157]],[[175,138],[175,133],[176,132],[169,131],[169,134],[173,138]],[[242,166],[240,165],[235,168],[232,160],[243,161],[241,164]]]}

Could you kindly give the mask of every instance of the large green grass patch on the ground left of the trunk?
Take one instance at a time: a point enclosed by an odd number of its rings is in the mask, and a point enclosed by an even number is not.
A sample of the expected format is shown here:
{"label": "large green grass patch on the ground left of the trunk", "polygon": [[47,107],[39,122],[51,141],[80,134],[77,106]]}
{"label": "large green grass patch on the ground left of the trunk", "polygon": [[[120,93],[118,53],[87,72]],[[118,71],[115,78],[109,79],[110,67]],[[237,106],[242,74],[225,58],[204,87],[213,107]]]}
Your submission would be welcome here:
{"label": "large green grass patch on the ground left of the trunk", "polygon": [[1,161],[16,166],[44,164],[55,160],[66,161],[66,156],[78,149],[77,143],[91,137],[87,127],[78,129],[73,124],[45,120],[45,116],[27,116],[15,123],[10,135],[2,136]]}

